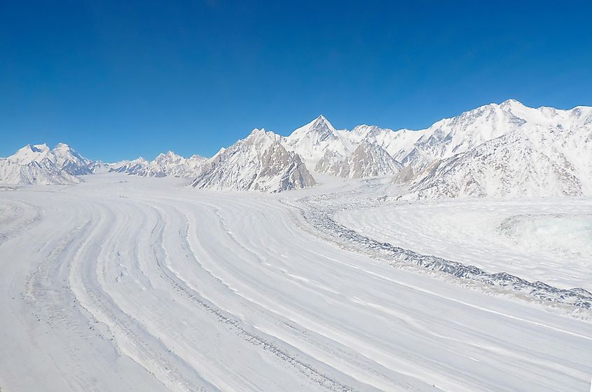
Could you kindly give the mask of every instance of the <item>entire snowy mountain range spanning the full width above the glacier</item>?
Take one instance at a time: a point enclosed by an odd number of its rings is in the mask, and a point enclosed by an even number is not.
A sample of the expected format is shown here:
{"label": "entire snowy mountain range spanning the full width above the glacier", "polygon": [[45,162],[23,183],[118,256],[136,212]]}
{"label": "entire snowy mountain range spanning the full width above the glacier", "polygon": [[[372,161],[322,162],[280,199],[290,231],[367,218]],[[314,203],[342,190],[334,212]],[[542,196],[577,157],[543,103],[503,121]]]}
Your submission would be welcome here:
{"label": "entire snowy mountain range spanning the full width above the glacier", "polygon": [[0,182],[67,184],[109,171],[188,177],[196,188],[277,192],[312,186],[312,172],[391,176],[407,198],[592,195],[591,135],[592,107],[530,108],[507,100],[423,130],[337,130],[318,116],[287,137],[254,130],[209,159],[169,151],[153,161],[102,163],[67,144],[29,145],[0,158]]}

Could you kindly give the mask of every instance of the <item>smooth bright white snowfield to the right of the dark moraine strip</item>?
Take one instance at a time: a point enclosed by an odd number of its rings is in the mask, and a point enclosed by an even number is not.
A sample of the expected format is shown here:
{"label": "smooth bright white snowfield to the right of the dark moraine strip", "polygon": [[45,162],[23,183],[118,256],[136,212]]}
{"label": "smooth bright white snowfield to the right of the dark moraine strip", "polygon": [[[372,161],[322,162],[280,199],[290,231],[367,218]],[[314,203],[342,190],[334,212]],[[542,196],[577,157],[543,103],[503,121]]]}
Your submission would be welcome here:
{"label": "smooth bright white snowfield to the right of the dark moraine strip", "polygon": [[337,221],[377,241],[592,291],[592,199],[476,199],[347,210]]}

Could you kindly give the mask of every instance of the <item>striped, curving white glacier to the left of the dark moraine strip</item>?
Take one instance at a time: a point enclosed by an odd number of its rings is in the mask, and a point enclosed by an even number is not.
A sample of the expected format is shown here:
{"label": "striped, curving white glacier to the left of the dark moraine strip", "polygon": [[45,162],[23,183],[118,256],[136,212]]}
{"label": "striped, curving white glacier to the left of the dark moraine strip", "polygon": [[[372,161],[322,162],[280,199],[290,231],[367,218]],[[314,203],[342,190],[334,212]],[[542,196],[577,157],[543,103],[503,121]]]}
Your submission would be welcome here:
{"label": "striped, curving white glacier to the left of the dark moraine strip", "polygon": [[0,191],[1,391],[589,388],[586,320],[311,235],[321,188],[181,185]]}

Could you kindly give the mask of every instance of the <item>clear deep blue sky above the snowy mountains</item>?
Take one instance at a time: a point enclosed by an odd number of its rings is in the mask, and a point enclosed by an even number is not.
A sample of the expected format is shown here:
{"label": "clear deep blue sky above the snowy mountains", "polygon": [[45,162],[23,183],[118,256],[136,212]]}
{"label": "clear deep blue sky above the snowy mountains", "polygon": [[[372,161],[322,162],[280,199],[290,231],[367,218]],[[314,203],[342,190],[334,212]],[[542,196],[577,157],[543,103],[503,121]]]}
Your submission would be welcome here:
{"label": "clear deep blue sky above the snowy mountains", "polygon": [[[520,4],[518,4],[520,3]],[[0,156],[211,156],[265,127],[592,105],[590,1],[1,1]]]}

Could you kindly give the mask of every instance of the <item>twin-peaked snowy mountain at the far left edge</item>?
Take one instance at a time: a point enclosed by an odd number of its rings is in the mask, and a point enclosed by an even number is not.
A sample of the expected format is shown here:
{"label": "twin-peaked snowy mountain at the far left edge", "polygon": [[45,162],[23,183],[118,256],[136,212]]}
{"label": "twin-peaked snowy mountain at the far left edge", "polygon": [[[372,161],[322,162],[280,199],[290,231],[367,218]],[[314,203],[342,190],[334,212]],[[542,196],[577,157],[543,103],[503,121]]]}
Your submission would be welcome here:
{"label": "twin-peaked snowy mountain at the far left edge", "polygon": [[1,184],[76,184],[76,176],[92,173],[90,161],[67,144],[27,144],[8,158],[0,158]]}

